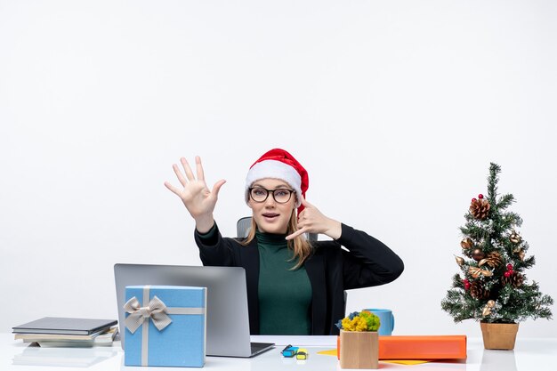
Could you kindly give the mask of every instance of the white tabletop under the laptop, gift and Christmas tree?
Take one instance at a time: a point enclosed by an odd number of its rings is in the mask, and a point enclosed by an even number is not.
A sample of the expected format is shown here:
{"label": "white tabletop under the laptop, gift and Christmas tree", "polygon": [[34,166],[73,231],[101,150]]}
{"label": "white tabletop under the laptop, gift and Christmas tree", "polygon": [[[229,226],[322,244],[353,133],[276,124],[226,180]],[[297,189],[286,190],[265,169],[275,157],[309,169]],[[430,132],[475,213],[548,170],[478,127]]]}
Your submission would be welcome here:
{"label": "white tabletop under the laptop, gift and Christmas tree", "polygon": [[[303,344],[295,343],[301,346]],[[327,371],[341,370],[334,356],[320,355],[318,351],[331,349],[323,346],[307,346],[310,355],[306,361],[284,359],[283,347],[253,359],[207,357],[206,368],[210,370],[238,371]],[[63,368],[62,368],[63,367]],[[12,334],[0,334],[0,370],[2,371],[70,371],[87,367],[103,371],[176,371],[176,367],[125,367],[124,351],[120,344],[112,347],[94,348],[38,348],[13,340]],[[557,369],[557,338],[518,338],[514,351],[485,351],[481,339],[468,339],[468,359],[460,362],[430,362],[415,366],[379,362],[380,369],[405,369],[407,371],[554,371]]]}

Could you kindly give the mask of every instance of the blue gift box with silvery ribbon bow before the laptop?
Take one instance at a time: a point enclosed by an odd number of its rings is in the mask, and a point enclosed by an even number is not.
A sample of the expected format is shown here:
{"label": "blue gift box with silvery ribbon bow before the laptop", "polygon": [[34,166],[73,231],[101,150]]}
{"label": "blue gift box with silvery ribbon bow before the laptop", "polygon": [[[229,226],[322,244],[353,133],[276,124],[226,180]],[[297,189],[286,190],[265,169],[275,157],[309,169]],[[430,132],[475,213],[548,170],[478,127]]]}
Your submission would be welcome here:
{"label": "blue gift box with silvery ribbon bow before the laptop", "polygon": [[126,286],[125,366],[203,367],[206,287]]}

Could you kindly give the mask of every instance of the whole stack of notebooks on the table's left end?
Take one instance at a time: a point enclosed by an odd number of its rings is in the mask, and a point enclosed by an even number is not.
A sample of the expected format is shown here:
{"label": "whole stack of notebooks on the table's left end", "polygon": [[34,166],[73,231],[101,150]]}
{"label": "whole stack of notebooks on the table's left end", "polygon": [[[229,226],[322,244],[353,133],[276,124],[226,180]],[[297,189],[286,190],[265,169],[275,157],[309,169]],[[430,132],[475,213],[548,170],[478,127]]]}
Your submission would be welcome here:
{"label": "whole stack of notebooks on the table's left end", "polygon": [[12,327],[15,339],[41,347],[111,346],[117,335],[115,319],[44,317]]}

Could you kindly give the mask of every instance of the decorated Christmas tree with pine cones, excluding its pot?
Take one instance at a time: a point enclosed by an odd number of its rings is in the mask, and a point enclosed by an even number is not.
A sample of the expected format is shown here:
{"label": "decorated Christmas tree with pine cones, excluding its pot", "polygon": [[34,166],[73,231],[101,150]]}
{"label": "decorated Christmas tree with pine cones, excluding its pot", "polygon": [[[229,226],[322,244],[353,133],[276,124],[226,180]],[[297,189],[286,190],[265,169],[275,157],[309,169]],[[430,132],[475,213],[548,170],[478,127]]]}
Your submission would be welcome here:
{"label": "decorated Christmas tree with pine cones, excluding its pot", "polygon": [[528,243],[516,228],[519,214],[506,211],[514,202],[511,194],[497,198],[499,165],[489,166],[488,198],[472,198],[460,245],[464,258],[456,256],[461,274],[441,301],[441,308],[455,320],[517,323],[525,319],[551,319],[553,299],[541,294],[536,282],[528,283],[525,270],[534,266],[527,255]]}

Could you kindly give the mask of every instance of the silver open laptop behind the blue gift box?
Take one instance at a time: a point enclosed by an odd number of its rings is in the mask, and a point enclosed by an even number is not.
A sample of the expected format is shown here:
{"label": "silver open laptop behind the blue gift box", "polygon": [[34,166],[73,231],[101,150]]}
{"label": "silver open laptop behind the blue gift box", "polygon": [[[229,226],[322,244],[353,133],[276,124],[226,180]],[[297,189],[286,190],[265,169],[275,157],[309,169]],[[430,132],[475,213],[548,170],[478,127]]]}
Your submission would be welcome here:
{"label": "silver open laptop behind the blue gift box", "polygon": [[126,331],[125,286],[134,285],[206,287],[207,356],[248,358],[274,346],[274,343],[250,342],[244,268],[117,263],[114,278],[122,348]]}

